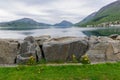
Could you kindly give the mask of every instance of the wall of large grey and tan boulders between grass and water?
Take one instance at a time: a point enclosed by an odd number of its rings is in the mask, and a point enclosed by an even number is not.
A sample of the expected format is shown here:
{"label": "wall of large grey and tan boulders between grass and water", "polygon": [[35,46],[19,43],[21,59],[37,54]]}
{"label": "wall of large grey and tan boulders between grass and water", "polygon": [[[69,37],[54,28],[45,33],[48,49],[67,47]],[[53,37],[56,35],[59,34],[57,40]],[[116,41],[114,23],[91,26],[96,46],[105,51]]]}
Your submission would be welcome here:
{"label": "wall of large grey and tan boulders between grass and water", "polygon": [[90,62],[120,61],[120,35],[109,37],[32,37],[24,40],[0,39],[0,64],[26,64],[31,57],[36,62],[70,62],[73,55],[79,61],[87,54]]}

